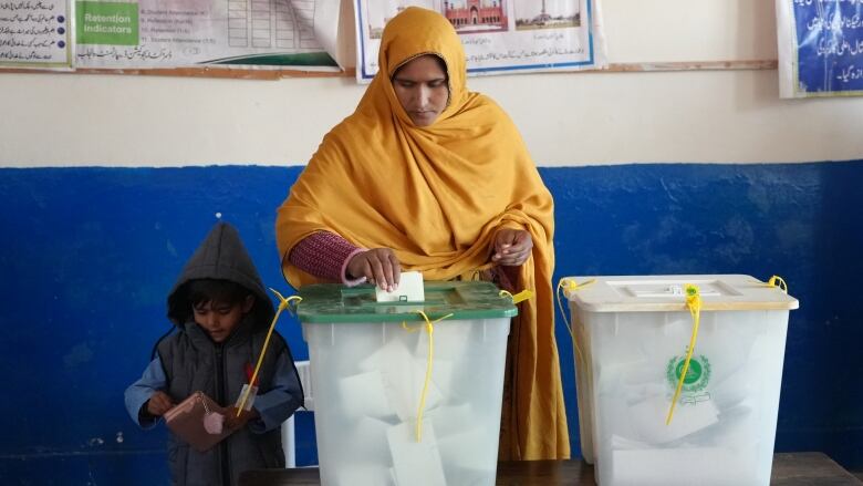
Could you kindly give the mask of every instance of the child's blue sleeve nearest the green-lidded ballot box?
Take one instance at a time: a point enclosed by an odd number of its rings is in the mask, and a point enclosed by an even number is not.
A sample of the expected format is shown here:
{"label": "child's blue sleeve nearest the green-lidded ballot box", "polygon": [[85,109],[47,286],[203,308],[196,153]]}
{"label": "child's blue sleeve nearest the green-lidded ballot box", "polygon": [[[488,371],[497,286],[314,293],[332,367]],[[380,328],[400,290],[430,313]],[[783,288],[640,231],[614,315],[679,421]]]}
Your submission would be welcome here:
{"label": "child's blue sleeve nearest the green-lidded ballot box", "polygon": [[260,417],[249,422],[249,427],[262,434],[281,426],[302,405],[302,396],[300,379],[288,353],[283,352],[275,361],[272,389],[254,399],[254,410]]}

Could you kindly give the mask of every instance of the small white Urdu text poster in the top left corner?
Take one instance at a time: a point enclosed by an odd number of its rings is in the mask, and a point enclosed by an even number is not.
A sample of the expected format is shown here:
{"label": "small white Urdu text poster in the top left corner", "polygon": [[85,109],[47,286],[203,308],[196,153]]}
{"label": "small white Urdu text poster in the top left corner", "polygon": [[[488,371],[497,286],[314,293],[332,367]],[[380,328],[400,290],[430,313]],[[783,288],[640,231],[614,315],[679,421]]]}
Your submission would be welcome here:
{"label": "small white Urdu text poster in the top left corner", "polygon": [[0,0],[0,66],[71,69],[66,0]]}

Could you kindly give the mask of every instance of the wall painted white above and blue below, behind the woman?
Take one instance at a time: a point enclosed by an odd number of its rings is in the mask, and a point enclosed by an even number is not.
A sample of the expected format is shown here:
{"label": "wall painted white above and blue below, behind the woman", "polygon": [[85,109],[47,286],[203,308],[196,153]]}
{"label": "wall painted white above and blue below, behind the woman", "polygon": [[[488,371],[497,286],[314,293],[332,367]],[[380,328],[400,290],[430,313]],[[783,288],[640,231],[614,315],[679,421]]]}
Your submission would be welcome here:
{"label": "wall painted white above and blue below, behind the woman", "polygon": [[[689,3],[603,0],[610,61],[776,59],[772,1]],[[783,276],[801,309],[777,449],[863,467],[863,99],[780,101],[769,70],[470,85],[512,115],[554,195],[557,277]],[[1,483],[166,482],[164,430],[123,409],[168,329],[166,292],[216,213],[285,287],[274,208],[362,93],[349,79],[0,74]],[[306,358],[299,324],[280,329]]]}

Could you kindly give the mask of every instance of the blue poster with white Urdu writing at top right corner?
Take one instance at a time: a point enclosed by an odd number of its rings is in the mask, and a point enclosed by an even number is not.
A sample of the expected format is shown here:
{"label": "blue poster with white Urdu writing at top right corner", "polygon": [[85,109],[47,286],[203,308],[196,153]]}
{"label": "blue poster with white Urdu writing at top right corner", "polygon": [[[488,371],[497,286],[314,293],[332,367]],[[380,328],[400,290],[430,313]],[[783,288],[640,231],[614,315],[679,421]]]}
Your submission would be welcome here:
{"label": "blue poster with white Urdu writing at top right corner", "polygon": [[863,0],[777,0],[782,97],[863,95]]}

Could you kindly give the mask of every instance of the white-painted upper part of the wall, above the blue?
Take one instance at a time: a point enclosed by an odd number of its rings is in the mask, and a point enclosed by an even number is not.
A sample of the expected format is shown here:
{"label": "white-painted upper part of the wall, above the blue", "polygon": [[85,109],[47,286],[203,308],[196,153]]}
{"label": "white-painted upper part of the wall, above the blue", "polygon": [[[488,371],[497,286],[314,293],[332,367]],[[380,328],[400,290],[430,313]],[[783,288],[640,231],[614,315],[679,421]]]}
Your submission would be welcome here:
{"label": "white-painted upper part of the wall, above the blue", "polygon": [[[773,0],[600,0],[609,61],[776,59]],[[863,97],[780,100],[777,72],[471,79],[539,165],[863,158]],[[0,166],[304,164],[350,79],[0,74]]]}

